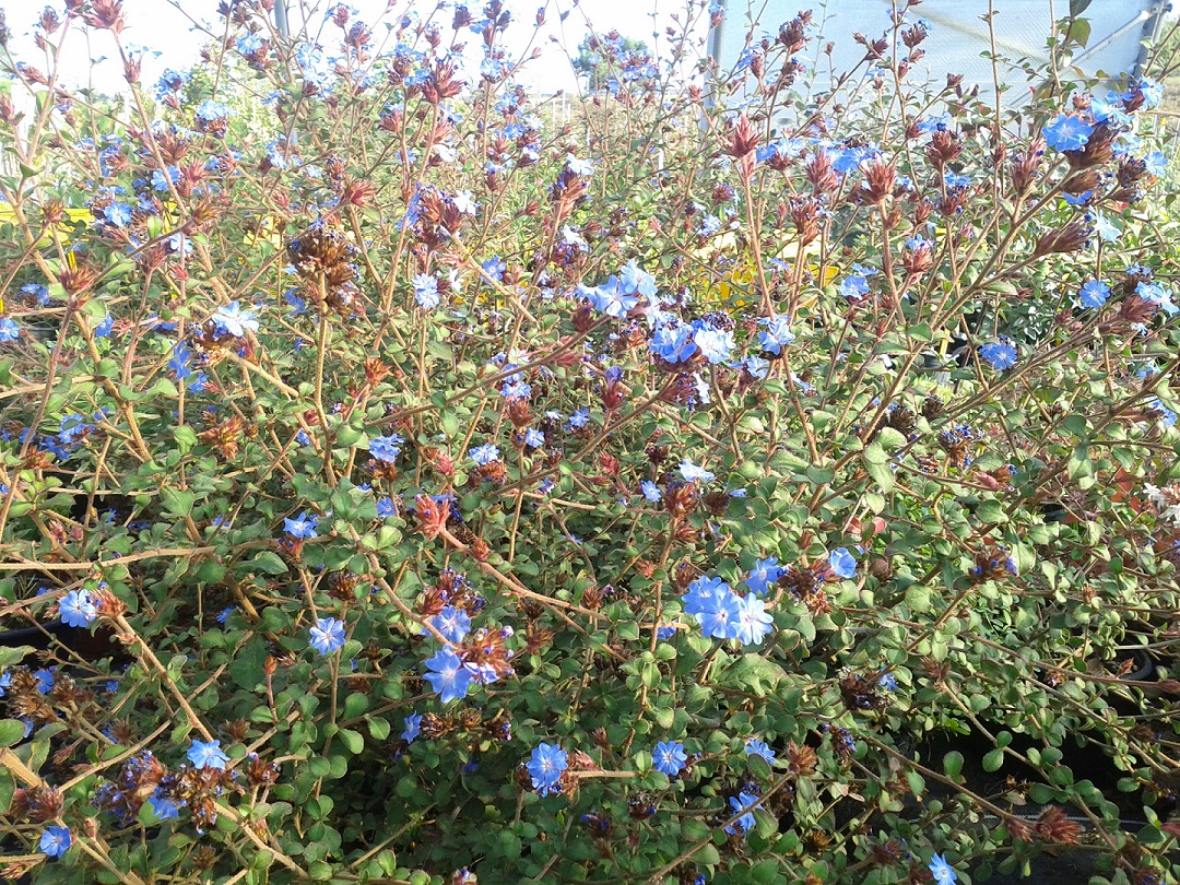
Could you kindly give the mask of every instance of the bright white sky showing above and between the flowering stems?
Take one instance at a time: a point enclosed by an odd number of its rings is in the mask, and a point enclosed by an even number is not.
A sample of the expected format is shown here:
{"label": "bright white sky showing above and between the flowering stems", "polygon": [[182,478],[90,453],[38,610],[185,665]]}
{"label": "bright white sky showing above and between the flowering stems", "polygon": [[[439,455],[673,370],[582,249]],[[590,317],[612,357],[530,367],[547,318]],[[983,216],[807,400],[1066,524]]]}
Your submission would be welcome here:
{"label": "bright white sky showing above and between the flowering stems", "polygon": [[[387,0],[350,0],[347,5],[360,13],[362,21],[373,26],[381,19],[386,4]],[[540,28],[538,39],[532,42],[533,46],[539,46],[542,55],[531,61],[518,79],[527,88],[545,93],[563,88],[572,91],[577,87],[562,45],[569,47],[571,54],[577,54],[576,47],[586,33],[586,20],[601,33],[617,28],[624,37],[642,39],[649,46],[655,46],[651,37],[654,25],[662,32],[673,24],[674,13],[678,12],[681,19],[684,15],[683,0],[582,0],[577,5],[573,0],[506,0],[513,19],[507,31],[509,47],[514,53],[523,54],[525,51],[524,44],[533,35],[537,7],[543,4],[548,4],[549,7],[546,24]],[[131,47],[143,47],[148,51],[143,58],[144,84],[149,86],[155,84],[165,68],[183,70],[197,60],[201,46],[208,37],[194,26],[194,20],[210,25],[221,33],[224,20],[217,15],[217,5],[218,0],[124,0],[124,18],[127,22],[123,32],[124,40]],[[322,12],[336,4],[335,0],[332,2],[288,0],[288,5],[294,8],[301,6],[315,8],[319,14],[309,18],[320,21]],[[60,4],[54,6],[59,7]],[[468,6],[472,15],[478,17],[481,0],[468,0]],[[394,0],[393,13],[386,15],[384,20],[396,20],[395,17],[411,9],[425,17],[433,7],[432,2],[420,0]],[[32,26],[40,14],[41,4],[34,0],[27,2],[18,0],[7,8],[8,27],[13,32],[11,42],[13,54],[18,60],[46,70],[44,54],[35,47],[32,38]],[[564,22],[558,14],[562,9],[570,13]],[[654,19],[653,13],[655,13]],[[450,20],[450,13],[441,19],[447,25]],[[296,25],[297,13],[293,13],[293,28]],[[385,31],[376,27],[373,30],[379,41]],[[444,34],[448,31],[447,27]],[[321,42],[327,54],[336,52],[339,34],[336,28],[324,31]],[[80,37],[83,39],[79,40]],[[470,34],[470,38],[468,48],[474,50],[478,38],[474,34]],[[559,44],[550,38],[558,40]],[[81,32],[77,32],[68,39],[59,74],[66,86],[93,85],[107,94],[125,90],[123,65],[118,61],[114,42],[109,33],[91,31],[86,38]],[[91,59],[94,59],[96,64],[92,65]]]}

